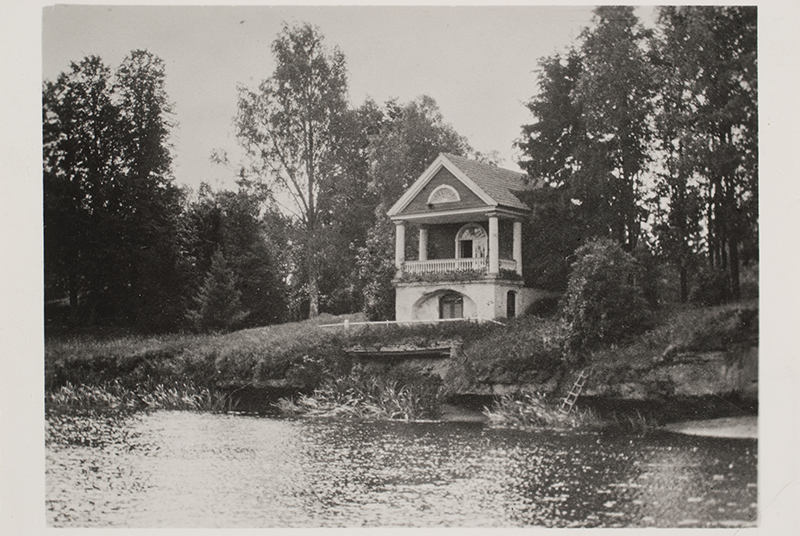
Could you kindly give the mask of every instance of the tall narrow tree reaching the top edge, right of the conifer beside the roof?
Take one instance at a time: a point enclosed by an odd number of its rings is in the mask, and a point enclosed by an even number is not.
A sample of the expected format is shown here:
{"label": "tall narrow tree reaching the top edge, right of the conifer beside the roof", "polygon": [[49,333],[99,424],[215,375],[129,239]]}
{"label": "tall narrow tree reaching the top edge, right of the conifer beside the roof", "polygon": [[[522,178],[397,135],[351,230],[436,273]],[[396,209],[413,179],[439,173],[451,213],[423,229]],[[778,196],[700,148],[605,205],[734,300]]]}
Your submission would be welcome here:
{"label": "tall narrow tree reaching the top edge, right of the conifer beside the roof", "polygon": [[650,32],[631,6],[601,6],[594,13],[595,26],[582,35],[583,72],[574,94],[590,141],[583,160],[591,179],[602,184],[611,237],[633,251],[652,139],[655,88],[645,52]]}

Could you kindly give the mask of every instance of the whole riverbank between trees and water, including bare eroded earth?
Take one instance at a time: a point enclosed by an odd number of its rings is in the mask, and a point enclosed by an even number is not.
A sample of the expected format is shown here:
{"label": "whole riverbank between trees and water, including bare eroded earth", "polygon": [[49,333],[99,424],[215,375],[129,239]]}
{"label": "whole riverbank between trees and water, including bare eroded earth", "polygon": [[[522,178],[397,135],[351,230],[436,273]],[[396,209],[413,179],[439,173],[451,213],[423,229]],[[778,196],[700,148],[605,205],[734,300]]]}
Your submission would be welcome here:
{"label": "whole riverbank between trees and water, including bare eroded earth", "polygon": [[[102,403],[112,386],[138,407],[149,400],[148,390],[170,394],[163,386],[177,385],[170,387],[172,398],[204,393],[209,408],[263,414],[274,412],[281,398],[311,395],[355,374],[378,378],[398,392],[404,386],[413,393],[438,391],[443,419],[477,420],[481,417],[464,411],[480,413],[504,395],[539,393],[557,403],[585,369],[589,378],[577,406],[603,417],[633,415],[661,425],[758,412],[757,300],[664,308],[653,330],[578,362],[565,360],[563,332],[555,319],[350,329],[343,328],[344,320],[352,324],[357,317],[327,316],[217,335],[47,336],[47,404],[91,405],[72,396],[79,389],[89,392],[88,387],[96,388],[92,396]],[[452,347],[443,357],[392,353],[386,358],[382,353],[443,344]],[[372,357],[354,348],[368,349]]]}

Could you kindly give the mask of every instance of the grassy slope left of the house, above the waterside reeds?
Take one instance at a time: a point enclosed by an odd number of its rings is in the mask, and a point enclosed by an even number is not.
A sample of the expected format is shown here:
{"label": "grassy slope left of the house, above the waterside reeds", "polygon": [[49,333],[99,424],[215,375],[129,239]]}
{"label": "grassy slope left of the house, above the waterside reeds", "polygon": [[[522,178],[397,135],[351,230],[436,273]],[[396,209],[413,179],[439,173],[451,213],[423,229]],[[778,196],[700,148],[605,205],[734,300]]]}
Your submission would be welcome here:
{"label": "grassy slope left of the house, above the waterside reeds", "polygon": [[117,337],[57,336],[45,339],[45,388],[67,384],[189,384],[216,389],[226,384],[286,380],[301,388],[347,368],[342,337],[314,321],[247,329],[224,335],[175,334]]}

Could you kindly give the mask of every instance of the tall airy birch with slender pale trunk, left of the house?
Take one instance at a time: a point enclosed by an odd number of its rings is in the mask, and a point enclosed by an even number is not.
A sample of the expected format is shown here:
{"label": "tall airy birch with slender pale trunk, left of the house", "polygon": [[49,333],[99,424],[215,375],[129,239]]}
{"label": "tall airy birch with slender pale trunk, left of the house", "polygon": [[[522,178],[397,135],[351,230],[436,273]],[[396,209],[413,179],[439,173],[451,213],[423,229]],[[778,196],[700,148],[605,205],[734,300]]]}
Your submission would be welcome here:
{"label": "tall airy birch with slender pale trunk, left of the house", "polygon": [[272,43],[276,68],[256,90],[239,88],[237,137],[252,172],[291,200],[287,209],[301,229],[309,315],[319,314],[319,276],[325,243],[320,196],[323,172],[336,151],[337,124],[347,111],[347,71],[342,52],[323,44],[309,24],[284,25]]}

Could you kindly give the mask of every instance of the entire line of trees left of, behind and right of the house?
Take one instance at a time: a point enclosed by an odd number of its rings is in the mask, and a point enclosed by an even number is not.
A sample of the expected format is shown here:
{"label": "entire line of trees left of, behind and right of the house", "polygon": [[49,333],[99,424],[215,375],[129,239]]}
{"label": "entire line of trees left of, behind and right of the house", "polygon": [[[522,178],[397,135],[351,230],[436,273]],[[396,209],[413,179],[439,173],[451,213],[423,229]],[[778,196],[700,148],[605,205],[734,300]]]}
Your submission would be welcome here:
{"label": "entire line of trees left of, behind and right of the house", "polygon": [[[544,182],[524,194],[528,284],[566,289],[591,238],[674,266],[684,301],[692,289],[737,299],[740,266],[757,261],[756,10],[658,14],[646,29],[632,8],[600,7],[572,48],[539,60],[534,120],[516,142]],[[153,54],[116,69],[90,56],[44,84],[48,322],[220,331],[392,317],[386,210],[440,152],[495,157],[430,97],[354,107],[344,54],[314,27],[285,26],[272,51],[272,76],[239,88],[236,191],[174,183]]]}

